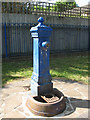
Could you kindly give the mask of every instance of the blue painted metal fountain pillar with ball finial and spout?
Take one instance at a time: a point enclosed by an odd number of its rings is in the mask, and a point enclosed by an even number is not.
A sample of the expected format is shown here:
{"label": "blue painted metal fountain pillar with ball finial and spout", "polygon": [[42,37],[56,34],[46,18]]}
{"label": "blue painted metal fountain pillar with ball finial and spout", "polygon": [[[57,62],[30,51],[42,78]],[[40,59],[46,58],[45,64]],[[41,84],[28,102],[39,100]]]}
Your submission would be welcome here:
{"label": "blue painted metal fountain pillar with ball finial and spout", "polygon": [[38,19],[39,24],[32,27],[30,32],[33,38],[33,74],[31,93],[41,95],[53,89],[49,72],[49,37],[52,28],[43,24],[44,19]]}

